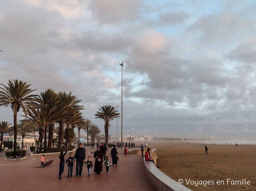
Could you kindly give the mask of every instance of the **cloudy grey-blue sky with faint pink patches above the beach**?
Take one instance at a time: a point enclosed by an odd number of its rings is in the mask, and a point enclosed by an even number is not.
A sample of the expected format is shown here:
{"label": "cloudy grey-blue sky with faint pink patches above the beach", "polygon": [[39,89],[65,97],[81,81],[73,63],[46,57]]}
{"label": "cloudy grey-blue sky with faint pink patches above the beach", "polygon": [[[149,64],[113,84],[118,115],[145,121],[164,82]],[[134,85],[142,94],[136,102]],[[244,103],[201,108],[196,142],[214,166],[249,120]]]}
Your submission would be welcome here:
{"label": "cloudy grey-blue sky with faint pink patches above the beach", "polygon": [[[254,138],[255,10],[250,0],[2,0],[0,83],[71,91],[103,131],[94,114],[121,111],[124,60],[124,135]],[[13,123],[11,108],[0,120]]]}

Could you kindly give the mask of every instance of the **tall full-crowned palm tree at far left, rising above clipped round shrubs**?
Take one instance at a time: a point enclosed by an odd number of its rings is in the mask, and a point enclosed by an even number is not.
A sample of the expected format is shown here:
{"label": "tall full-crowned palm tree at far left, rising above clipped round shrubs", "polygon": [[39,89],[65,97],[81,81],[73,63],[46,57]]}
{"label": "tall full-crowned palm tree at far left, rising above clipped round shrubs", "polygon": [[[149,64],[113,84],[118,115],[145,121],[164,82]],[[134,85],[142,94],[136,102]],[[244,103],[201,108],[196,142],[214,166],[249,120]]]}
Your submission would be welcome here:
{"label": "tall full-crowned palm tree at far left, rising above clipped round shrubs", "polygon": [[[27,84],[27,82],[9,80],[8,85],[1,85],[4,86],[4,88],[0,91],[0,106],[11,106],[13,111],[13,118],[14,118],[14,143],[13,143],[13,151],[17,151],[17,113],[19,112],[20,108],[24,111],[25,115],[27,115],[27,109],[34,105],[35,98],[37,95],[30,94],[36,89],[30,89],[31,84]],[[16,158],[16,156],[13,156]]]}

